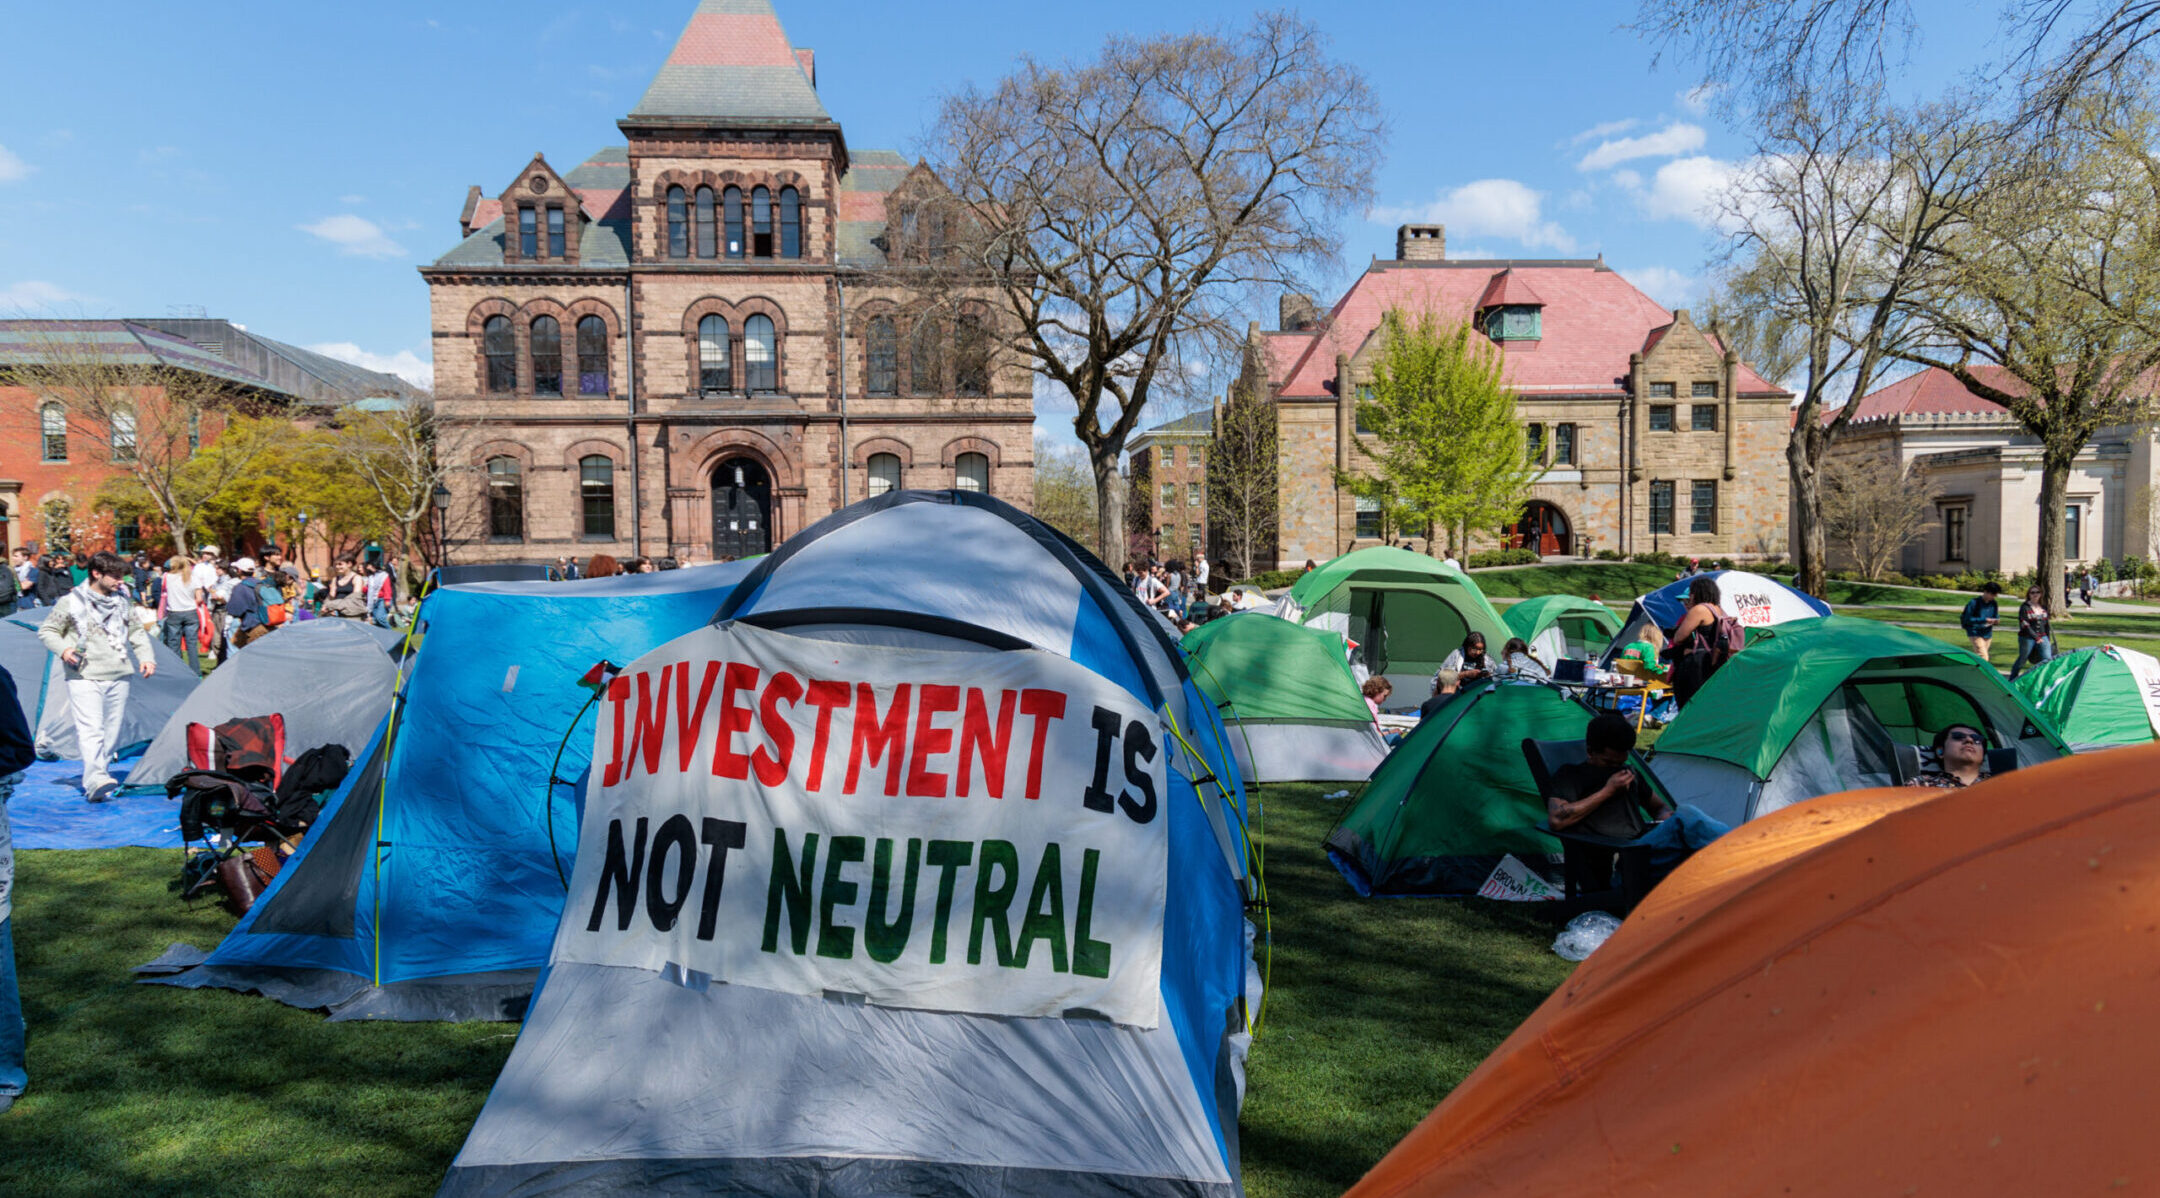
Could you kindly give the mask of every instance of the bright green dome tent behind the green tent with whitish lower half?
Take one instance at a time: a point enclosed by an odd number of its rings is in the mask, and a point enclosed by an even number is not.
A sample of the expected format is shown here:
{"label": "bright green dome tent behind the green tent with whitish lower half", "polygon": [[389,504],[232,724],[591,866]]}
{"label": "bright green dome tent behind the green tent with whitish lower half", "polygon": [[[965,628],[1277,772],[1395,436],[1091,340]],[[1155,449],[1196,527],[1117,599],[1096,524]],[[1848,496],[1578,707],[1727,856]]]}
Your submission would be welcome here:
{"label": "bright green dome tent behind the green tent with whitish lower half", "polygon": [[1508,622],[1456,566],[1406,548],[1361,548],[1298,578],[1277,615],[1350,637],[1359,665],[1385,673],[1395,695],[1423,699],[1432,671],[1469,632],[1499,652]]}

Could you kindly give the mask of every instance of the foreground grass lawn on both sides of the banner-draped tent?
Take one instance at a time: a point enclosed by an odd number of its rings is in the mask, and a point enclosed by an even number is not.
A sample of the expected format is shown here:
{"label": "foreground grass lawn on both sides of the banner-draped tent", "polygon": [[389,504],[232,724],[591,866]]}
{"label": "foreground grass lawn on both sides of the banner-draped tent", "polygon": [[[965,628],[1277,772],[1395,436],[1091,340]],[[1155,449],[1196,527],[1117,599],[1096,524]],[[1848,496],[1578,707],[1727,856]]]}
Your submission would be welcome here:
{"label": "foreground grass lawn on both sides of the banner-draped tent", "polygon": [[[1320,850],[1341,801],[1270,788],[1272,991],[1242,1151],[1253,1198],[1354,1183],[1568,976],[1516,907],[1361,900]],[[516,1027],[328,1023],[261,997],[143,986],[186,904],[177,850],[17,853],[30,1092],[0,1116],[0,1192],[37,1198],[434,1194]]]}

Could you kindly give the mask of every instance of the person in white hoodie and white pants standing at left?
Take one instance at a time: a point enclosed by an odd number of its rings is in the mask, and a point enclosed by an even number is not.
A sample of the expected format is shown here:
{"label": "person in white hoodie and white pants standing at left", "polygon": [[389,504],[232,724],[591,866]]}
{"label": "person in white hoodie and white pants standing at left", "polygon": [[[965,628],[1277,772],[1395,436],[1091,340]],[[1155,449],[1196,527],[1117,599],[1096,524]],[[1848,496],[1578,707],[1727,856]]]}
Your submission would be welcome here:
{"label": "person in white hoodie and white pants standing at left", "polygon": [[134,617],[134,604],[121,589],[125,578],[127,561],[121,555],[93,553],[89,581],[60,596],[37,628],[37,639],[67,667],[67,704],[82,747],[82,794],[91,803],[104,803],[119,790],[112,779],[112,738],[127,710],[127,678],[158,671],[149,630]]}

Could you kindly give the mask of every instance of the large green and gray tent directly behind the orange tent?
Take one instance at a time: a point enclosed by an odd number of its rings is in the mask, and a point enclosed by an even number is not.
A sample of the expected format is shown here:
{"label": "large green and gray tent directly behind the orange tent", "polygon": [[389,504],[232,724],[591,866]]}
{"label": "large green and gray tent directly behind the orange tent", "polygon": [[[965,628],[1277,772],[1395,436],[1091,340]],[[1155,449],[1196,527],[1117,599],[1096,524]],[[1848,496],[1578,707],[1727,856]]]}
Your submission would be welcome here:
{"label": "large green and gray tent directly behind the orange tent", "polygon": [[1972,650],[1851,615],[1752,628],[1657,738],[1657,777],[1728,825],[1819,794],[1896,786],[1899,747],[1970,723],[2033,766],[2069,749]]}

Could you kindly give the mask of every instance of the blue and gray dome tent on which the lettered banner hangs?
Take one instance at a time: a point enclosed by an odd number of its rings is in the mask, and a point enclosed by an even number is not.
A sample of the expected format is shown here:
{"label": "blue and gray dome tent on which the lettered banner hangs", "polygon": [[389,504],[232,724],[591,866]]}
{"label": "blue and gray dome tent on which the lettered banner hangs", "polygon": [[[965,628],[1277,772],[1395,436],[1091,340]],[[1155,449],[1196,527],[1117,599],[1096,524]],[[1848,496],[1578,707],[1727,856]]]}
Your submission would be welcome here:
{"label": "blue and gray dome tent on which the lettered banner hangs", "polygon": [[1007,503],[894,492],[788,540],[728,596],[728,622],[851,645],[1050,650],[1156,712],[1177,745],[1162,1017],[879,1006],[557,954],[443,1194],[1238,1194],[1257,1002],[1244,797],[1212,704],[1132,594]]}

